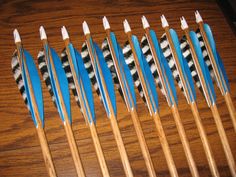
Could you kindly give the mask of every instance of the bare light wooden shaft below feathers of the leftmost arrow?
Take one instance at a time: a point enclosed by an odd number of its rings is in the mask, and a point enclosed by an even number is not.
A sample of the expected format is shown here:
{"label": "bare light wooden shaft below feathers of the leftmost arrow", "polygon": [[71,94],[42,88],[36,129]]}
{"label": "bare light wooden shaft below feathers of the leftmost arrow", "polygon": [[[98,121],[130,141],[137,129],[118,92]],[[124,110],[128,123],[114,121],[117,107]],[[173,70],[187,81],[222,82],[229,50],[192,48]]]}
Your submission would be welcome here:
{"label": "bare light wooden shaft below feathers of the leftmost arrow", "polygon": [[44,130],[42,126],[38,126],[36,129],[37,129],[39,142],[40,142],[42,153],[43,153],[44,162],[48,171],[48,175],[50,177],[56,177],[57,174],[56,174],[55,167],[52,161],[51,153],[48,148],[47,138],[45,136]]}

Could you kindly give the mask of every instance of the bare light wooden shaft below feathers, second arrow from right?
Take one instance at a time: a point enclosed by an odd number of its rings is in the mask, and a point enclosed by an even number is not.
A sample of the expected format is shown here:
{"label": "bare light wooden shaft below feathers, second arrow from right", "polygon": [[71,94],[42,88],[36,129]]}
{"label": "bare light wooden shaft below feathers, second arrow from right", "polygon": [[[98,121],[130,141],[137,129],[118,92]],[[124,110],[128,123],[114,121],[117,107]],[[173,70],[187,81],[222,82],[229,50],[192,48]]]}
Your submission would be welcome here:
{"label": "bare light wooden shaft below feathers, second arrow from right", "polygon": [[214,117],[214,120],[216,123],[216,127],[218,130],[219,136],[220,136],[221,143],[223,145],[223,149],[224,149],[224,152],[226,155],[226,159],[228,161],[231,175],[236,176],[236,166],[235,166],[233,153],[230,149],[229,142],[228,142],[222,121],[220,119],[220,114],[219,114],[218,109],[215,104],[212,105],[210,108],[211,108],[211,111],[212,111],[212,114],[213,114],[213,117]]}

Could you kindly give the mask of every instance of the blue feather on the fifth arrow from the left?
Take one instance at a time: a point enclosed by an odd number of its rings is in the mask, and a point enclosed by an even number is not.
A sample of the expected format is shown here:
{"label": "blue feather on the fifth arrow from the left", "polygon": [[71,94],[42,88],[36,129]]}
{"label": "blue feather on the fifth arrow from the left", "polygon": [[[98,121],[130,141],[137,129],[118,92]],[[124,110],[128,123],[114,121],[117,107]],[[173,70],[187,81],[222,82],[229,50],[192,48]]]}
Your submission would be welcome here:
{"label": "blue feather on the fifth arrow from the left", "polygon": [[115,51],[115,55],[117,58],[117,62],[119,64],[120,73],[121,73],[121,82],[124,84],[124,90],[122,90],[123,95],[127,96],[126,105],[129,107],[129,109],[132,109],[136,107],[136,96],[135,96],[135,90],[134,90],[134,84],[133,84],[133,78],[130,73],[128,65],[125,63],[124,55],[122,53],[122,49],[119,46],[116,36],[113,32],[110,33],[112,45]]}

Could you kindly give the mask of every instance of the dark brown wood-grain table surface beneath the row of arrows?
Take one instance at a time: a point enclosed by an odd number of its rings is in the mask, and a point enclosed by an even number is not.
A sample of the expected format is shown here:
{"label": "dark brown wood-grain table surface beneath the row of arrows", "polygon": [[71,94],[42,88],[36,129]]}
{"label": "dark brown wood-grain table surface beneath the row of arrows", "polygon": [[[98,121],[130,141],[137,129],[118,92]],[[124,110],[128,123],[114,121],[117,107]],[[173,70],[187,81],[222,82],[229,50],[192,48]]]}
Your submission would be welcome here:
{"label": "dark brown wood-grain table surface beneath the row of arrows", "polygon": [[[180,29],[179,17],[185,16],[189,26],[196,29],[194,11],[199,10],[205,22],[210,24],[215,34],[219,53],[223,58],[226,72],[229,77],[234,105],[236,105],[236,38],[224,18],[220,8],[214,1],[1,1],[0,2],[0,176],[47,176],[44,161],[31,117],[22,101],[11,71],[11,56],[15,49],[13,29],[17,28],[21,34],[25,49],[36,59],[42,45],[39,39],[39,26],[44,25],[52,47],[60,52],[64,47],[60,27],[65,25],[70,33],[73,44],[81,49],[84,41],[82,22],[86,20],[95,41],[100,45],[105,37],[102,26],[102,17],[106,15],[112,29],[115,31],[120,44],[126,40],[122,21],[127,18],[133,33],[139,39],[143,35],[140,18],[146,15],[151,26],[156,30],[158,37],[163,33],[160,15],[165,14],[171,27],[176,29],[179,36],[183,35]],[[50,95],[43,83],[45,105],[45,130],[49,141],[52,157],[58,176],[76,176],[72,157],[67,144],[65,131],[58,112],[55,109]],[[167,135],[174,161],[180,176],[190,176],[190,171],[183,152],[180,138],[167,106],[165,98],[159,89],[160,116]],[[230,146],[236,154],[236,134],[233,131],[229,113],[216,88],[217,103],[220,115],[226,129]],[[130,114],[117,92],[118,122],[125,142],[129,160],[135,176],[148,176],[137,137],[132,125]],[[73,130],[82,157],[87,176],[102,176],[96,158],[95,149],[90,136],[89,128],[71,97]],[[117,146],[112,134],[103,105],[94,92],[97,115],[97,129],[105,158],[111,176],[124,176]],[[210,176],[206,156],[193,120],[190,107],[178,88],[179,110],[190,141],[191,150],[201,176]],[[161,150],[159,139],[153,120],[150,118],[140,96],[137,94],[138,115],[142,123],[147,144],[154,161],[158,176],[169,176],[167,164]],[[215,156],[221,176],[230,176],[223,148],[216,130],[214,120],[207,104],[199,91],[197,102],[200,115],[206,129],[213,154]]]}

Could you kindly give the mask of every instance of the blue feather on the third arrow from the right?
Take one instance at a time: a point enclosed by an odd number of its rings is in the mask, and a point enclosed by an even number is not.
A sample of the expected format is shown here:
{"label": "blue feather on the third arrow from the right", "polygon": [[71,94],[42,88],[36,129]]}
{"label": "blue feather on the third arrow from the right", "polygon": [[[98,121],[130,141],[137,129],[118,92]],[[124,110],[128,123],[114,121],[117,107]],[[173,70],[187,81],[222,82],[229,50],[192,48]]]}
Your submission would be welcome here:
{"label": "blue feather on the third arrow from the right", "polygon": [[188,67],[188,63],[184,59],[184,56],[181,52],[179,39],[178,39],[178,36],[177,36],[177,33],[175,32],[175,30],[170,29],[170,35],[171,35],[171,38],[172,38],[172,41],[173,41],[173,44],[175,47],[175,51],[178,56],[178,60],[179,60],[181,69],[183,71],[185,82],[187,83],[187,89],[188,89],[188,93],[189,93],[189,101],[194,102],[196,100],[196,92],[194,89],[194,83],[193,83],[190,69]]}

